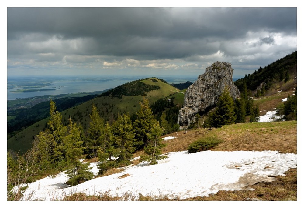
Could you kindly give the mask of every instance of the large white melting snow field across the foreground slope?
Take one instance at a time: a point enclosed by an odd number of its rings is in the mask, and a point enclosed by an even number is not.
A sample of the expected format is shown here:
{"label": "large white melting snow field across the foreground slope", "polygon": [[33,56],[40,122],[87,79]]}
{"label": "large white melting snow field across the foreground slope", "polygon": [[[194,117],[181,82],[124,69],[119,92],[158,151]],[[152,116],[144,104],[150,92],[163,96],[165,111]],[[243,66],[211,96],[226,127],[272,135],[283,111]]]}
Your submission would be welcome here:
{"label": "large white melting snow field across the foreground slope", "polygon": [[[98,172],[95,163],[92,172]],[[273,181],[273,177],[284,176],[284,172],[297,167],[296,154],[281,154],[277,151],[203,151],[188,154],[187,151],[168,153],[168,158],[157,165],[146,166],[146,162],[127,166],[123,172],[98,177],[68,187],[66,174],[47,176],[29,183],[24,196],[31,200],[60,199],[62,194],[83,192],[99,195],[110,190],[114,196],[123,193],[150,196],[167,196],[185,199],[209,196],[219,190],[252,190],[248,184]],[[120,178],[124,174],[129,176]]]}

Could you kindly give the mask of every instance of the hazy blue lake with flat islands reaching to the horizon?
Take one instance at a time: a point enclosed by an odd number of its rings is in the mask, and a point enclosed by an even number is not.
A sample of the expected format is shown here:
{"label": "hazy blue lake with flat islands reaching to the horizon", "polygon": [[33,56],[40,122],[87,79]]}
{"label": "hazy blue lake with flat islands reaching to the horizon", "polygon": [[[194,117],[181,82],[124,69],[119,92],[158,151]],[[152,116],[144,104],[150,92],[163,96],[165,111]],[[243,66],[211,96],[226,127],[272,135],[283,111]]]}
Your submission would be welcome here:
{"label": "hazy blue lake with flat islands reaching to the horizon", "polygon": [[[42,95],[59,95],[77,92],[95,92],[146,77],[10,77],[7,99],[29,98]],[[197,77],[160,77],[171,83],[194,82]],[[35,92],[12,92],[26,89],[50,89]],[[56,90],[55,90],[56,89]]]}

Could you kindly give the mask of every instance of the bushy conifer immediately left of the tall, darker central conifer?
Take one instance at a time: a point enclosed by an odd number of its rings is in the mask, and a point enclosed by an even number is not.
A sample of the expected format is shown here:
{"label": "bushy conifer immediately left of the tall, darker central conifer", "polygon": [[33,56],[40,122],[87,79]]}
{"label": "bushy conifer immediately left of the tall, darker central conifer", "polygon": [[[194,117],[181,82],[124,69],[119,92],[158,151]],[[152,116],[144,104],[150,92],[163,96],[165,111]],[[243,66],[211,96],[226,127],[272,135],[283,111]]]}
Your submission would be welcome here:
{"label": "bushy conifer immediately left of the tall, darker central conifer", "polygon": [[132,159],[132,153],[135,151],[134,143],[137,139],[134,138],[135,133],[131,123],[130,115],[123,114],[118,116],[118,119],[113,124],[114,135],[118,143],[119,153],[116,160],[121,165],[129,165]]}

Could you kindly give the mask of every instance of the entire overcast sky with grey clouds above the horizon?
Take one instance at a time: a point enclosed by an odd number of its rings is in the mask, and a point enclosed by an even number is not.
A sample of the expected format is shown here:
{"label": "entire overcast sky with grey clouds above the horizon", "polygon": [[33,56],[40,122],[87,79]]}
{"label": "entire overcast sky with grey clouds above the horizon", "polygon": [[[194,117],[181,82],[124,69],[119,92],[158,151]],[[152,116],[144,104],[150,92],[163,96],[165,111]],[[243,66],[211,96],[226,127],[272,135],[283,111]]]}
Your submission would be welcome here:
{"label": "entire overcast sky with grey clouds above the horizon", "polygon": [[8,76],[243,77],[296,50],[296,8],[7,8]]}

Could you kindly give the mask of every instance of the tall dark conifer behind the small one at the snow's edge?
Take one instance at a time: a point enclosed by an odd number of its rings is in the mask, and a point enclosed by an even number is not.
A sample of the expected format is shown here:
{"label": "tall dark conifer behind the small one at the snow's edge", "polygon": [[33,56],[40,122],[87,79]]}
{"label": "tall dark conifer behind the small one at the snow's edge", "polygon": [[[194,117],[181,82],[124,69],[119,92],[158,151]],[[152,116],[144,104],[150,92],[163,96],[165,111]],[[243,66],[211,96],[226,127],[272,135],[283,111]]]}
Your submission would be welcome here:
{"label": "tall dark conifer behind the small one at the snow's edge", "polygon": [[153,116],[153,112],[150,108],[149,100],[143,98],[140,102],[140,110],[136,113],[137,119],[134,121],[133,126],[136,133],[136,139],[138,139],[138,148],[142,148],[147,145],[148,133],[153,124],[156,123],[156,119]]}

